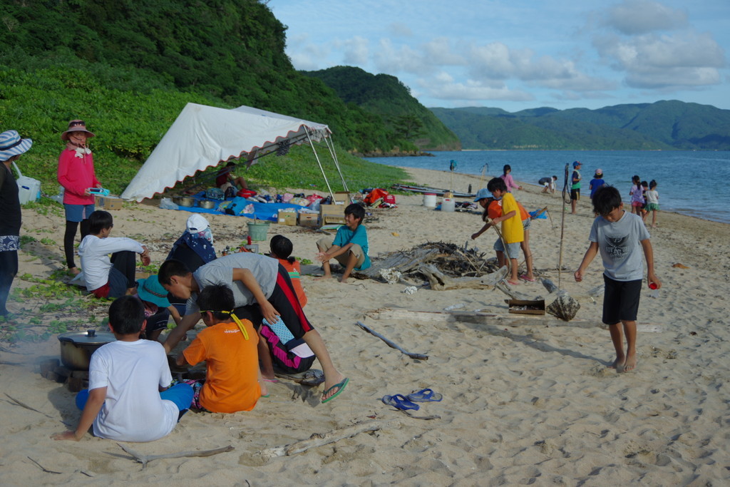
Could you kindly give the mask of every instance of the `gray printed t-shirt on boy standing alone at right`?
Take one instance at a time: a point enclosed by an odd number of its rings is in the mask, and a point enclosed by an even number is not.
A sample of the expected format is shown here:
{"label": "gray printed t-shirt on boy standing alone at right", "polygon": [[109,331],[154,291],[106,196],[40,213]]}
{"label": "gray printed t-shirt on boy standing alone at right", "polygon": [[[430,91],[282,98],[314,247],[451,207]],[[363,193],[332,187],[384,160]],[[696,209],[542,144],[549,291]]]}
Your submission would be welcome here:
{"label": "gray printed t-shirt on boy standing alone at right", "polygon": [[613,280],[639,280],[644,277],[641,241],[650,238],[639,215],[627,211],[617,222],[602,216],[593,221],[591,242],[598,242],[604,274]]}

